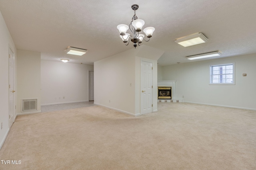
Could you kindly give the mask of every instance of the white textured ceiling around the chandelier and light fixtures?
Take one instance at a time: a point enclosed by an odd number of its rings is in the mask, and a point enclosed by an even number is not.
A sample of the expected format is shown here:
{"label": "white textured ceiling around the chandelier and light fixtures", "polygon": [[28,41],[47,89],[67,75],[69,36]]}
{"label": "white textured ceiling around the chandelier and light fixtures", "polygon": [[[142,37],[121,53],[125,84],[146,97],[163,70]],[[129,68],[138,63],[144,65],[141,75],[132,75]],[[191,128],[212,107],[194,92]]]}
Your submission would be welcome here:
{"label": "white textured ceiling around the chandelier and light fixtures", "polygon": [[[139,5],[136,15],[144,27],[156,29],[143,44],[165,51],[159,65],[195,62],[186,56],[218,50],[222,57],[256,53],[256,0],[0,0],[0,11],[17,49],[41,52],[43,60],[92,65],[134,48],[122,43],[116,29],[130,23],[132,4]],[[196,32],[208,42],[190,47],[174,42]],[[68,46],[88,53],[68,55]]]}

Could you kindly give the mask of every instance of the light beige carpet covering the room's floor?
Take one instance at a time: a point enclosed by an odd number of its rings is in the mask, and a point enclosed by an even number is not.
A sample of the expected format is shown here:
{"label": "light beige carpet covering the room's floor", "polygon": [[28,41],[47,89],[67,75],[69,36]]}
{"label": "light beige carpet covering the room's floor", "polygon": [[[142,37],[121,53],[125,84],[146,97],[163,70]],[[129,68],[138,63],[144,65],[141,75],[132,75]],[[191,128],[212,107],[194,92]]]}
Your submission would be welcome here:
{"label": "light beige carpet covering the room's floor", "polygon": [[1,170],[255,170],[256,111],[158,103],[132,117],[100,106],[20,115]]}

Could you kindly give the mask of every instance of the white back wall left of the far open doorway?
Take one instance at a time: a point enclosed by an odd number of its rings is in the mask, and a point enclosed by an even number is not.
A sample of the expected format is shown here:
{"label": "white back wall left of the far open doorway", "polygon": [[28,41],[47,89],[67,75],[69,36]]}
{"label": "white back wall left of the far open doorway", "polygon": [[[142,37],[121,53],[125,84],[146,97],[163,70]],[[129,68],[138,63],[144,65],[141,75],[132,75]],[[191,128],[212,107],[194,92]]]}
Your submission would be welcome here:
{"label": "white back wall left of the far open doorway", "polygon": [[93,66],[86,64],[42,60],[41,104],[88,101],[88,71],[93,69]]}

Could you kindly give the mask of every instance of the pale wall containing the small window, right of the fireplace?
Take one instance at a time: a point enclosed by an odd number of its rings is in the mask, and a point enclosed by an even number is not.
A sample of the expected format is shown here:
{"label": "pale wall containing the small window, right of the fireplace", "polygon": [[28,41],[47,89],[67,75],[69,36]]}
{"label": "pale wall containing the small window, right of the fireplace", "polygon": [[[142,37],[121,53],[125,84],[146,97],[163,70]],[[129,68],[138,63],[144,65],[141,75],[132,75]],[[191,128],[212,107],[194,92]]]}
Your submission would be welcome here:
{"label": "pale wall containing the small window, right of the fireplace", "polygon": [[[235,63],[235,85],[209,85],[210,64]],[[185,102],[256,109],[256,54],[162,66],[163,80],[177,80]],[[246,73],[247,76],[242,76]]]}

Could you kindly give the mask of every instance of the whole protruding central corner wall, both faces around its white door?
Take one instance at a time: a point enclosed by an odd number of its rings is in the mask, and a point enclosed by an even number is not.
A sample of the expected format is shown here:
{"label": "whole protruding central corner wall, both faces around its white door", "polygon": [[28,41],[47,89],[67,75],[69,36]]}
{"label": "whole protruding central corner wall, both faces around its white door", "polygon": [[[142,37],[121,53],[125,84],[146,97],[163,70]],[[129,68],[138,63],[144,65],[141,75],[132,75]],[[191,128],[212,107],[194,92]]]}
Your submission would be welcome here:
{"label": "whole protruding central corner wall, both faces around its white door", "polygon": [[141,45],[95,62],[94,104],[129,115],[141,115],[141,61],[147,61],[153,66],[152,111],[157,111],[157,60],[163,53],[159,49]]}

